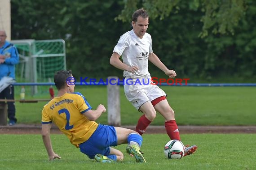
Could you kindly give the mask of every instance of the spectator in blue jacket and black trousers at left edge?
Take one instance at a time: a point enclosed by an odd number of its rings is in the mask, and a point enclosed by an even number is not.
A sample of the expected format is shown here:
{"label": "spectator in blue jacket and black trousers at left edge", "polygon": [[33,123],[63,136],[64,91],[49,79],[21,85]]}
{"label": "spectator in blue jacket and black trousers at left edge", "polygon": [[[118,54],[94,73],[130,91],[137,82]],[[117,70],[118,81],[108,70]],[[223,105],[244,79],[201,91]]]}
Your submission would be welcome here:
{"label": "spectator in blue jacket and black trousers at left edge", "polygon": [[[0,30],[0,80],[4,76],[9,76],[15,79],[15,64],[19,62],[17,48],[5,41],[6,32]],[[7,86],[0,92],[0,99],[12,99],[14,100],[14,87],[13,85]],[[8,104],[8,119],[9,125],[14,125],[17,122],[15,118],[15,104],[13,102],[7,102]]]}

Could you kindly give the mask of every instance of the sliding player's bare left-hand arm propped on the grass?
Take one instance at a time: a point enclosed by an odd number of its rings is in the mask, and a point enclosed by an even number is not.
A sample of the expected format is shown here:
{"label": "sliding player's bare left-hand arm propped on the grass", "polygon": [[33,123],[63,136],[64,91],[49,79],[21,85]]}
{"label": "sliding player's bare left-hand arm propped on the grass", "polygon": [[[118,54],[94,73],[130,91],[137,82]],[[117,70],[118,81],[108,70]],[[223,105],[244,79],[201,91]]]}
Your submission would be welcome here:
{"label": "sliding player's bare left-hand arm propped on the grass", "polygon": [[55,158],[60,159],[61,157],[54,153],[53,147],[52,147],[52,142],[50,138],[50,131],[51,131],[51,124],[42,124],[42,138],[44,141],[44,146],[46,148],[46,151],[48,153],[49,161],[52,161]]}

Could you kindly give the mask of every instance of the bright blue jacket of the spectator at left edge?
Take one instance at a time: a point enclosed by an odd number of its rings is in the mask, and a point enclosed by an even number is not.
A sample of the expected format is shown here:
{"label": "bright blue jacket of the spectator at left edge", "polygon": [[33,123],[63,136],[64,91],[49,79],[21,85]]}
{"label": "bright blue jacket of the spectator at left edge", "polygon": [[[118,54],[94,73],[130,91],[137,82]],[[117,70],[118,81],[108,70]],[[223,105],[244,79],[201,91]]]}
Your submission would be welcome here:
{"label": "bright blue jacket of the spectator at left edge", "polygon": [[0,64],[0,79],[4,76],[11,76],[15,79],[15,64],[19,63],[19,55],[17,48],[5,41],[4,46],[0,48],[1,55],[9,55],[5,62]]}

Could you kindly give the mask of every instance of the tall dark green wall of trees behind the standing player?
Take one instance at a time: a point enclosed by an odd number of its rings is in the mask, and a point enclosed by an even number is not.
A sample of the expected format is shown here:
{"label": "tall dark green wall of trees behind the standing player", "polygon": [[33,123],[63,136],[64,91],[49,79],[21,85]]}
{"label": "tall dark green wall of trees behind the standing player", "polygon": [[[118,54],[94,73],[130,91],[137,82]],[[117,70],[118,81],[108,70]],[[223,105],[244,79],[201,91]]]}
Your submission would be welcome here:
{"label": "tall dark green wall of trees behind the standing player", "polygon": [[[180,78],[196,81],[222,76],[226,80],[230,76],[232,81],[240,77],[255,80],[255,0],[11,0],[11,3],[12,38],[64,39],[67,68],[75,76],[122,77],[122,71],[109,64],[109,58],[120,35],[132,30],[129,19],[132,13],[144,7],[150,14],[147,32],[152,35],[154,51]],[[154,67],[150,65],[153,76],[165,77]]]}

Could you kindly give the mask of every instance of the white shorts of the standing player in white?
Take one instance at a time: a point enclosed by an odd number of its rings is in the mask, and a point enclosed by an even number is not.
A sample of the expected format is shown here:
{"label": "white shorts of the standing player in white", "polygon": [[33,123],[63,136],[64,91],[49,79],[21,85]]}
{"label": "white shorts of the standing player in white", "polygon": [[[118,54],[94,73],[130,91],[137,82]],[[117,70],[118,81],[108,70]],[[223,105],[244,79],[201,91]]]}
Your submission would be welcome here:
{"label": "white shorts of the standing player in white", "polygon": [[[151,81],[151,77],[124,80],[124,93],[128,101],[139,110],[145,102],[152,102],[166,93]],[[151,84],[152,83],[152,84]]]}

